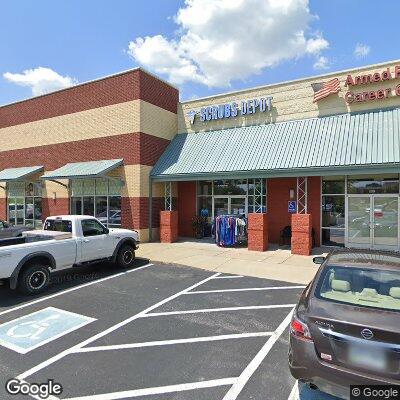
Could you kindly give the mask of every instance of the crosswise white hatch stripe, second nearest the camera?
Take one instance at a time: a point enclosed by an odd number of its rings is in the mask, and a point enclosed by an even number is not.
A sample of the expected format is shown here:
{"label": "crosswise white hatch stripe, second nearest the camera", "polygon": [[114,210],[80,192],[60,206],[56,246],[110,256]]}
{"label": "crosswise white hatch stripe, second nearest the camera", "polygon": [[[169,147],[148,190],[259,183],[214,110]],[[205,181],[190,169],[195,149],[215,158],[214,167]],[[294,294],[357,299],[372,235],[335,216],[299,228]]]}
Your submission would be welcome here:
{"label": "crosswise white hatch stripe, second nearest the camera", "polygon": [[116,345],[108,345],[108,346],[84,347],[84,348],[74,351],[74,353],[89,353],[89,352],[93,352],[93,351],[136,349],[136,348],[154,347],[154,346],[170,346],[170,345],[174,345],[174,344],[185,344],[185,343],[217,342],[220,340],[265,337],[265,336],[271,336],[272,334],[273,334],[273,332],[235,333],[235,334],[230,334],[230,335],[202,336],[202,337],[188,338],[188,339],[157,340],[157,341],[143,342],[143,343],[126,343],[126,344],[116,344]]}

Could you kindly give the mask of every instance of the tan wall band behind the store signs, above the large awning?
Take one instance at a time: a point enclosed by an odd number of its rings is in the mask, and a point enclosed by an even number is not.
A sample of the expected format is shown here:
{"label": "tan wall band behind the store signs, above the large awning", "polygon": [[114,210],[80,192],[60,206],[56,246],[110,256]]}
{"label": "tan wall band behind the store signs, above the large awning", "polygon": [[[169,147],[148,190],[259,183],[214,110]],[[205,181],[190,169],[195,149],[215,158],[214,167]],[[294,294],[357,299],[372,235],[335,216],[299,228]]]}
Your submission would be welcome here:
{"label": "tan wall band behind the store signs, above the large awning", "polygon": [[[325,76],[312,77],[292,82],[283,82],[240,92],[218,95],[212,98],[180,103],[178,105],[178,132],[198,132],[203,130],[223,129],[242,125],[255,125],[303,118],[313,118],[346,112],[370,110],[375,108],[398,107],[400,106],[400,96],[396,96],[394,91],[390,98],[366,101],[364,103],[353,103],[348,105],[344,99],[345,93],[349,90],[344,86],[348,74],[351,74],[354,77],[357,75],[374,72],[381,73],[387,67],[389,67],[393,75],[395,65],[400,65],[400,60],[387,64],[366,66],[363,68],[332,73]],[[325,98],[318,103],[313,103],[314,92],[311,84],[325,82],[335,77],[339,78],[341,86],[341,91],[338,93],[338,95],[330,95],[328,98]],[[400,79],[391,79],[389,81],[377,82],[368,85],[354,86],[350,88],[350,90],[354,92],[362,92],[387,87],[394,89],[399,83]],[[227,118],[208,122],[201,122],[198,116],[196,116],[196,122],[192,126],[190,125],[189,119],[186,115],[190,110],[200,110],[200,108],[209,105],[218,105],[233,101],[238,102],[241,100],[254,99],[264,96],[273,97],[271,112],[258,112],[249,116],[239,115],[236,118]]]}

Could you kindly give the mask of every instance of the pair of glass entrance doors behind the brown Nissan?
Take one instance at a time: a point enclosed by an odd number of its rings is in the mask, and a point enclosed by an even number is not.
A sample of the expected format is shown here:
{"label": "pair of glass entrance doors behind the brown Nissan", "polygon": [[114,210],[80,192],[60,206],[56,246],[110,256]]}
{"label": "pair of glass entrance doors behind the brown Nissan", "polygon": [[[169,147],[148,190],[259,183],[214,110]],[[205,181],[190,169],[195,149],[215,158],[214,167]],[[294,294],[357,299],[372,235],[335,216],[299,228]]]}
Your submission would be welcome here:
{"label": "pair of glass entrance doors behind the brown Nissan", "polygon": [[347,210],[347,247],[398,250],[399,196],[349,195]]}

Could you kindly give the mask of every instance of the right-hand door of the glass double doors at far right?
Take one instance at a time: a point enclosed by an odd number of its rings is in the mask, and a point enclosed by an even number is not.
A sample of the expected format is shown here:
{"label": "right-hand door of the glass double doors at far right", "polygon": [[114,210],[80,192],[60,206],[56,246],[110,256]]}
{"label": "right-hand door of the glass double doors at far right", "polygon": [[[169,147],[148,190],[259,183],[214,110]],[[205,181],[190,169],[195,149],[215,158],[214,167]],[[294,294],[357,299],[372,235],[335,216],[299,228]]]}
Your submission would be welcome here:
{"label": "right-hand door of the glass double doors at far right", "polygon": [[373,248],[397,250],[399,231],[399,199],[397,196],[372,196]]}

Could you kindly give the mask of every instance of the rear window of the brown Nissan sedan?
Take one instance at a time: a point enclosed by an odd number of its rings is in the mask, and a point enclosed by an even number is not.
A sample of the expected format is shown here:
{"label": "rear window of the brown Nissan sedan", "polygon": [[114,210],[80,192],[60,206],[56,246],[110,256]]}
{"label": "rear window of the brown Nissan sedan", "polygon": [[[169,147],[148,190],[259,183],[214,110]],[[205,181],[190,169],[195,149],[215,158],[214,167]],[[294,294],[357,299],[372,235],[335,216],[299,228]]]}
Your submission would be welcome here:
{"label": "rear window of the brown Nissan sedan", "polygon": [[400,311],[400,271],[327,266],[316,296],[360,307]]}

